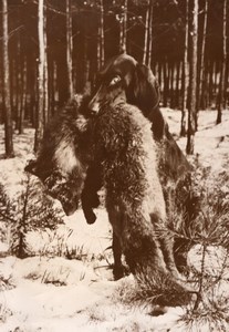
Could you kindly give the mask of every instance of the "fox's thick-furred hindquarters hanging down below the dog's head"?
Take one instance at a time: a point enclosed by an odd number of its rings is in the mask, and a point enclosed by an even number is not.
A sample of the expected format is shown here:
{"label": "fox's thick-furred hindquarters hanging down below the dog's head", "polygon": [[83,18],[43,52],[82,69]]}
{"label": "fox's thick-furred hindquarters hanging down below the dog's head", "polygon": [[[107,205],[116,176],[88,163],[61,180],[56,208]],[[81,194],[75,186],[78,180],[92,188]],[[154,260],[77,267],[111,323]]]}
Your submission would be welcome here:
{"label": "fox's thick-furred hindquarters hanging down below the dog's head", "polygon": [[150,267],[177,276],[150,123],[133,105],[106,105],[94,138],[110,221],[132,272]]}

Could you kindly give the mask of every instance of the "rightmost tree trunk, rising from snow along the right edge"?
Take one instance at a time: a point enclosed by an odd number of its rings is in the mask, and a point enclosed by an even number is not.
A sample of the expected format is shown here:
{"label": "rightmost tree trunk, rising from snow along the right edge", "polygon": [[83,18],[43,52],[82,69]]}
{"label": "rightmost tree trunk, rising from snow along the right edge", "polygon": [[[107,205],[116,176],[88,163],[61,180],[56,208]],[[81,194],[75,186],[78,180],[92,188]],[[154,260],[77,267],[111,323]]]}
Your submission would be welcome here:
{"label": "rightmost tree trunk, rising from snow along the right edge", "polygon": [[222,19],[222,65],[219,85],[218,96],[218,112],[217,112],[217,124],[222,121],[222,107],[225,97],[225,77],[226,77],[226,65],[227,65],[227,0],[223,0],[223,19]]}

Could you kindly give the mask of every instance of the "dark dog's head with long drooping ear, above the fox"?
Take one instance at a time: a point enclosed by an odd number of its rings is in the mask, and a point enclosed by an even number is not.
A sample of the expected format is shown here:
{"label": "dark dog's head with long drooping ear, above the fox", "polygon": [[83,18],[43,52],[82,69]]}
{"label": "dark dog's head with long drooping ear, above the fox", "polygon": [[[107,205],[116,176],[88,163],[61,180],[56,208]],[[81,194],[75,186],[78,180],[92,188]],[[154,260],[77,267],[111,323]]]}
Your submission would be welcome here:
{"label": "dark dog's head with long drooping ear, above the fox", "polygon": [[134,58],[122,54],[112,58],[97,75],[96,92],[89,107],[96,114],[106,103],[127,102],[140,108],[153,123],[156,139],[165,131],[165,122],[159,111],[159,87],[149,68]]}

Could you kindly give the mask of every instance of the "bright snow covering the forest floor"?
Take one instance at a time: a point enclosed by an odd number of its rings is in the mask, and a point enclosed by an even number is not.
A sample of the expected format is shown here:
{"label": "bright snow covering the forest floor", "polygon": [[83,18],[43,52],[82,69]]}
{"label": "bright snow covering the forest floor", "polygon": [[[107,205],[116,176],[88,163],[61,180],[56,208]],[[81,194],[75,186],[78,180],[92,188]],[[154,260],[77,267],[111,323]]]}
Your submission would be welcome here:
{"label": "bright snow covering the forest floor", "polygon": [[[164,114],[170,132],[178,137],[180,113],[166,108]],[[215,120],[215,111],[200,112],[195,153],[205,167],[217,174],[229,172],[229,111],[223,112],[222,124],[216,126]],[[11,197],[20,193],[25,162],[32,158],[34,133],[24,132],[14,136],[15,158],[0,159],[0,181]],[[178,139],[178,144],[185,149],[186,138]],[[38,253],[35,257],[4,257],[7,243],[0,242],[1,332],[187,331],[178,323],[181,308],[168,308],[165,314],[153,317],[148,307],[122,302],[122,290],[132,286],[133,277],[113,281],[111,227],[104,209],[96,214],[94,225],[87,225],[79,210],[65,217],[64,225],[54,232],[30,232],[28,242]],[[54,255],[66,248],[77,251],[79,259]],[[201,331],[208,332],[208,326]]]}

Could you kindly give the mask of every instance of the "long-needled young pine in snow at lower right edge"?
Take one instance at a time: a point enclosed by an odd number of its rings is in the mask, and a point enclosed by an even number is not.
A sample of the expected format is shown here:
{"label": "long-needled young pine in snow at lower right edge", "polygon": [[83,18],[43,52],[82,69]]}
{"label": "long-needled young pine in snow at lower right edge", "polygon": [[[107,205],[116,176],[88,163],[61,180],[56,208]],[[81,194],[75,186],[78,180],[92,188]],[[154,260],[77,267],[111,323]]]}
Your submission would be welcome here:
{"label": "long-needled young pine in snow at lower right edge", "polygon": [[[225,172],[211,174],[210,169],[201,167],[195,176],[195,190],[201,198],[199,214],[188,225],[181,219],[180,227],[174,229],[191,246],[200,248],[198,267],[192,261],[189,270],[189,281],[197,297],[186,308],[181,321],[187,331],[200,331],[202,326],[209,331],[228,331],[229,293],[223,293],[223,288],[229,287],[229,176]],[[210,250],[219,255],[211,256]],[[189,258],[191,262],[194,257]]]}

